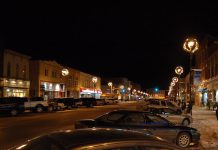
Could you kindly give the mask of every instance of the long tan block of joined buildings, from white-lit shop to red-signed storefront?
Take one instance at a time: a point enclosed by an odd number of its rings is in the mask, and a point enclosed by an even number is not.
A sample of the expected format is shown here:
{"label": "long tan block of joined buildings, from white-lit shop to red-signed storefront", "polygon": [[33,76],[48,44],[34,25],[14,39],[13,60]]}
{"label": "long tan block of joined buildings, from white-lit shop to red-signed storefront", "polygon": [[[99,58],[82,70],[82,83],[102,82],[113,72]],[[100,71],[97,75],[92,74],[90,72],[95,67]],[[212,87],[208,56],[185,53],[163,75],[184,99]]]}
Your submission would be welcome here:
{"label": "long tan block of joined buildings, from white-lit shop to red-signed storefront", "polygon": [[[30,62],[30,93],[44,99],[61,97],[95,97],[101,95],[101,78],[92,82],[93,75],[64,67],[56,61],[32,60]],[[67,74],[63,74],[67,71]]]}

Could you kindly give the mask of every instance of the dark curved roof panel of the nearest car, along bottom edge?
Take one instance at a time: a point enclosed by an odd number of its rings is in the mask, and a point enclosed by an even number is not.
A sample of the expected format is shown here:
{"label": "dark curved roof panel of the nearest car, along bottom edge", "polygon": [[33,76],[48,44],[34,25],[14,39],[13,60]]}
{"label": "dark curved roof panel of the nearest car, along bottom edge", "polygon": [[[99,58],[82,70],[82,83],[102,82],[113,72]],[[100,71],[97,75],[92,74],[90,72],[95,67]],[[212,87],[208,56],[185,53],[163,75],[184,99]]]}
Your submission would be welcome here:
{"label": "dark curved roof panel of the nearest car, along bottom edge", "polygon": [[50,134],[42,135],[32,140],[28,140],[25,144],[22,145],[26,145],[26,147],[28,147],[31,146],[34,141],[40,141],[40,139],[43,140],[44,138],[48,138],[58,145],[61,145],[61,147],[64,149],[72,149],[74,147],[90,144],[133,140],[168,143],[166,140],[160,137],[138,131],[111,128],[86,128],[77,129],[74,131],[62,130],[52,132]]}

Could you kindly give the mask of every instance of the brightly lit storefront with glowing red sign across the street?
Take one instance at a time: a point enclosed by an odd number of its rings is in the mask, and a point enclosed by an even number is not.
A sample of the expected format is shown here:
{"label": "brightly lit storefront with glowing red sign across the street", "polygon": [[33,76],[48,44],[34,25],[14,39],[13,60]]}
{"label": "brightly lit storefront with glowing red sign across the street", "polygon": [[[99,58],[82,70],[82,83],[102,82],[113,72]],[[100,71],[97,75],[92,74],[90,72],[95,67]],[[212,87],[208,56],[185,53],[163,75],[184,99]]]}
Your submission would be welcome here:
{"label": "brightly lit storefront with glowing red sign across the street", "polygon": [[89,88],[80,88],[80,98],[91,98],[95,97],[96,99],[100,99],[102,91],[99,89],[93,90]]}

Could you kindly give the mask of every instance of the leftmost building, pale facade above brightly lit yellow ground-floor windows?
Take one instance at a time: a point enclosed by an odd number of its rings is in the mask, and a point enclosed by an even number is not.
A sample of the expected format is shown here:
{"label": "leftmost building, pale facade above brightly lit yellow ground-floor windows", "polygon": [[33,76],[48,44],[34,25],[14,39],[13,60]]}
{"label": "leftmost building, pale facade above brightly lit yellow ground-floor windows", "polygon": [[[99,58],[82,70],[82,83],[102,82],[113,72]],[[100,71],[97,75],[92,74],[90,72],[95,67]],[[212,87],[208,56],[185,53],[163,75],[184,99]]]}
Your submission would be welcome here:
{"label": "leftmost building, pale facade above brightly lit yellow ground-floor windows", "polygon": [[29,96],[29,59],[9,49],[0,51],[0,97]]}

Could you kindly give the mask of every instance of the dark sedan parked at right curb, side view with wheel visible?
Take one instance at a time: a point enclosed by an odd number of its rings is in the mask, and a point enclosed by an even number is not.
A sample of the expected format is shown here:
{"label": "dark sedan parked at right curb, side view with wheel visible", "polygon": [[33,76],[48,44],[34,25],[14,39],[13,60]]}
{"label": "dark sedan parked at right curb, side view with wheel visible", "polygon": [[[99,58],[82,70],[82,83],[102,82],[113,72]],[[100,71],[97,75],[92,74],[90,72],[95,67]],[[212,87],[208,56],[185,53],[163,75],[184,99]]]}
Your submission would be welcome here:
{"label": "dark sedan parked at right curb, side view with wheel visible", "polygon": [[198,145],[200,133],[191,127],[176,126],[165,118],[143,111],[116,110],[96,119],[83,119],[75,123],[75,128],[121,128],[144,132],[150,130],[154,135],[176,143],[180,147]]}

